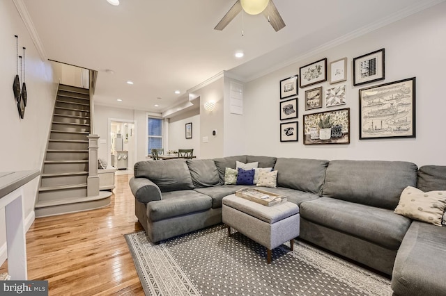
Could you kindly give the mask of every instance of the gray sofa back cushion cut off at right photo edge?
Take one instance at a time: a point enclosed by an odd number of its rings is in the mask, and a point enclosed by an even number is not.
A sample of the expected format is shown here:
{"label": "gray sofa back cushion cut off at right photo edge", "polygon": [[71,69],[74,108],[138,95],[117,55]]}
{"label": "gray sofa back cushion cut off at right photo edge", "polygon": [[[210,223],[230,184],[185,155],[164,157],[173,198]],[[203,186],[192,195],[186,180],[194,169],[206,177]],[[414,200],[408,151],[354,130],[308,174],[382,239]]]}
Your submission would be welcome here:
{"label": "gray sofa back cushion cut off at right photo edge", "polygon": [[423,165],[418,170],[417,188],[426,192],[446,190],[446,166]]}

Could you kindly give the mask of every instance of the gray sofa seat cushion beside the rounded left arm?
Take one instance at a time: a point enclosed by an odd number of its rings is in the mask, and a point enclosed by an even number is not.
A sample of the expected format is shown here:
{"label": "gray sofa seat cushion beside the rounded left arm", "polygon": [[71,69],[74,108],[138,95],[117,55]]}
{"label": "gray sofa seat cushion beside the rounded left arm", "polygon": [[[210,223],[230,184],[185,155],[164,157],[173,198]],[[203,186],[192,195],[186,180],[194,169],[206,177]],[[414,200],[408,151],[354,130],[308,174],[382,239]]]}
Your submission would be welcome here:
{"label": "gray sofa seat cushion beside the rounded left arm", "polygon": [[194,190],[164,192],[162,201],[147,204],[147,216],[152,222],[210,209],[212,199]]}

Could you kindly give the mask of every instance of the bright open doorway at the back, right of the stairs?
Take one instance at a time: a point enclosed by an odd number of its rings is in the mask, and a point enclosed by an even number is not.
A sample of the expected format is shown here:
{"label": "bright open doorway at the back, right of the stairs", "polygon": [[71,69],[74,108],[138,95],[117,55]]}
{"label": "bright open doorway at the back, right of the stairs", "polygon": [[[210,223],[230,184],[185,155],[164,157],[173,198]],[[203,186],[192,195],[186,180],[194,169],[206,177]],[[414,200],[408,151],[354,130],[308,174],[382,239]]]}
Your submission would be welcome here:
{"label": "bright open doorway at the back, right of the stairs", "polygon": [[136,129],[131,120],[109,119],[109,163],[116,174],[132,174],[136,159]]}

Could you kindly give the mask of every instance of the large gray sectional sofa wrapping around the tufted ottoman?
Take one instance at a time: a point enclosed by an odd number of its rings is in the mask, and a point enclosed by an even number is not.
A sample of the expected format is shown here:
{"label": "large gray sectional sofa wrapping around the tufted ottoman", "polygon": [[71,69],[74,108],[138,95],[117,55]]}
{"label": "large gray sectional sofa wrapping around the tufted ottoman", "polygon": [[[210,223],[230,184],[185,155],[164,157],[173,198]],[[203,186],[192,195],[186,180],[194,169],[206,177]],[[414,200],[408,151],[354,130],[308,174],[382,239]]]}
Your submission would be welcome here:
{"label": "large gray sectional sofa wrapping around the tufted ottoman", "polygon": [[222,222],[226,167],[258,162],[278,171],[277,188],[300,207],[300,238],[392,275],[394,295],[444,295],[446,227],[394,208],[407,186],[446,190],[446,168],[401,161],[324,161],[268,156],[141,161],[130,188],[148,238],[160,242]]}

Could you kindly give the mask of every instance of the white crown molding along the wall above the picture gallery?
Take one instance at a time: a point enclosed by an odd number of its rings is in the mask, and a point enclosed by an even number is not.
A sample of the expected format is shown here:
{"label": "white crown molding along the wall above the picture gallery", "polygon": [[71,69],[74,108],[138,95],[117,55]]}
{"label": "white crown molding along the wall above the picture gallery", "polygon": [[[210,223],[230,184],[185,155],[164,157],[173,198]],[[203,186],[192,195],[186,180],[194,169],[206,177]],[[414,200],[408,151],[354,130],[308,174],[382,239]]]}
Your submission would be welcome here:
{"label": "white crown molding along the wall above the picture gallery", "polygon": [[378,21],[376,21],[372,24],[369,24],[367,26],[362,26],[361,28],[357,28],[355,31],[352,31],[351,33],[343,35],[343,36],[336,38],[330,42],[327,42],[325,44],[322,44],[319,47],[315,47],[314,49],[311,49],[311,50],[305,52],[304,54],[301,54],[300,56],[296,56],[289,60],[285,60],[283,63],[278,63],[274,67],[268,67],[268,69],[266,69],[265,71],[257,72],[256,74],[254,74],[252,76],[247,76],[247,78],[243,79],[242,81],[249,82],[249,81],[253,81],[254,79],[258,79],[260,77],[266,76],[267,74],[275,72],[279,69],[282,69],[289,65],[293,65],[295,63],[298,63],[301,60],[311,58],[312,56],[320,54],[323,51],[332,49],[333,47],[337,47],[340,44],[343,44],[345,42],[348,42],[350,40],[358,38],[362,35],[365,35],[367,33],[375,31],[378,28],[383,28],[384,26],[387,26],[389,24],[397,22],[400,19],[404,19],[406,17],[409,17],[410,15],[415,15],[415,13],[419,13],[422,10],[425,10],[432,6],[436,6],[437,4],[442,3],[444,1],[446,1],[446,0],[431,0],[431,1],[424,1],[422,3],[416,3],[413,6],[408,6],[407,8],[404,8],[403,10],[400,10],[397,13],[389,15],[388,17],[384,17],[383,19],[378,19]]}

